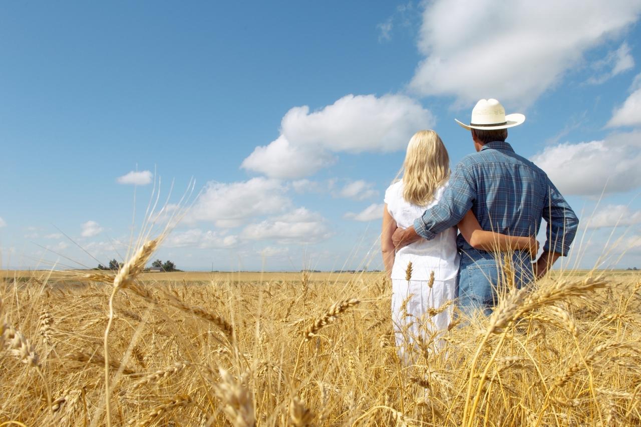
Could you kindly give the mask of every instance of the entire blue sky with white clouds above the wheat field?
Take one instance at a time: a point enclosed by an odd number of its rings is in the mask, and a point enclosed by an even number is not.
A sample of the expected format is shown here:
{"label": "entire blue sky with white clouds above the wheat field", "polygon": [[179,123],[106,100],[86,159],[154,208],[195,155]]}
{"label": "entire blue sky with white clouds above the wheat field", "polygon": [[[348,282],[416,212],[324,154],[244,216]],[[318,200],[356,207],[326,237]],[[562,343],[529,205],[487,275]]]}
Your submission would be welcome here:
{"label": "entire blue sky with white clouds above the wheat field", "polygon": [[157,258],[379,268],[409,138],[457,162],[482,97],[579,213],[567,265],[641,267],[641,1],[510,4],[4,2],[2,267],[120,258],[151,182],[194,178]]}

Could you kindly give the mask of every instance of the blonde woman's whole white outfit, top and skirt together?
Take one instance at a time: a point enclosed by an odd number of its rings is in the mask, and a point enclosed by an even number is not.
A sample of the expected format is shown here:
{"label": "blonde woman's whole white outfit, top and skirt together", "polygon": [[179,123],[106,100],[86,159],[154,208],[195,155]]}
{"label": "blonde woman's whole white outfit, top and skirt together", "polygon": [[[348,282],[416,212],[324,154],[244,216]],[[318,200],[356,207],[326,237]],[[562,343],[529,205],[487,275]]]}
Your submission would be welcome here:
{"label": "blonde woman's whole white outfit, top and skirt together", "polygon": [[[385,191],[387,210],[400,228],[413,226],[414,220],[426,209],[436,205],[445,187],[437,189],[434,199],[426,206],[408,203],[403,198],[403,181],[398,181]],[[412,278],[406,280],[406,269],[412,262]],[[396,345],[401,356],[408,358],[408,346],[420,337],[429,339],[438,331],[447,330],[453,303],[443,312],[428,316],[429,308],[439,308],[456,297],[456,276],[459,255],[456,249],[456,228],[449,228],[432,240],[421,239],[397,251],[392,268],[392,321]],[[429,278],[434,272],[434,283]],[[411,295],[411,297],[410,297]],[[405,310],[403,303],[406,301]],[[432,348],[438,350],[435,338]]]}

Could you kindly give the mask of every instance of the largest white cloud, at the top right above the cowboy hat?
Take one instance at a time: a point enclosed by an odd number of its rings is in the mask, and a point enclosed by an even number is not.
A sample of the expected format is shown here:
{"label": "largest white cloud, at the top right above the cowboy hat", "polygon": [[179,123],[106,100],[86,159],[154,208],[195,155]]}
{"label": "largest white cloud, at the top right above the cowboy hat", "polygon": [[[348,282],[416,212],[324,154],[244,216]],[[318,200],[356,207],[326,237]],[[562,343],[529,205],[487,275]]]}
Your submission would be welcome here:
{"label": "largest white cloud, at the top right above the cowboy hat", "polygon": [[[637,21],[641,1],[437,0],[423,13],[410,88],[459,103],[495,97],[525,106],[583,54]],[[619,68],[626,67],[626,56]]]}

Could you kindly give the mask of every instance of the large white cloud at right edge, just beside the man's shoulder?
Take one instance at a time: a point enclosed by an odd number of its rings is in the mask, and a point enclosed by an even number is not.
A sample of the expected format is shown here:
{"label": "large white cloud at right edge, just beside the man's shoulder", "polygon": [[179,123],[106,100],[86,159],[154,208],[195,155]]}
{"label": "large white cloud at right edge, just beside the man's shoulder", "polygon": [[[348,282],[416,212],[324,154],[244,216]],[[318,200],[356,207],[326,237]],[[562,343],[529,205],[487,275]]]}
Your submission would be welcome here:
{"label": "large white cloud at right edge, just beside the man's shoulder", "polygon": [[547,172],[563,194],[599,196],[641,186],[641,131],[604,140],[546,147],[531,160]]}

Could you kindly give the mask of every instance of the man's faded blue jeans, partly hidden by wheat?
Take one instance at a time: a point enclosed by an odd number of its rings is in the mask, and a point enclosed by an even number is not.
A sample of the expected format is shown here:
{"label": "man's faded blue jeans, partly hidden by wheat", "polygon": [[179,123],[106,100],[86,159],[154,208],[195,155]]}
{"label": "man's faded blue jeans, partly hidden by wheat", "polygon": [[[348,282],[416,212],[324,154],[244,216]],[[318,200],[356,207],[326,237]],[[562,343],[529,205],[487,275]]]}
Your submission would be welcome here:
{"label": "man's faded blue jeans, partly hidden by wheat", "polygon": [[490,315],[497,305],[499,293],[507,292],[509,287],[520,289],[533,280],[529,258],[515,254],[512,258],[514,280],[504,278],[503,261],[494,258],[470,260],[461,257],[458,269],[458,308],[465,315],[473,315],[476,310]]}

